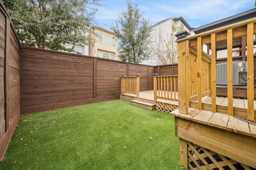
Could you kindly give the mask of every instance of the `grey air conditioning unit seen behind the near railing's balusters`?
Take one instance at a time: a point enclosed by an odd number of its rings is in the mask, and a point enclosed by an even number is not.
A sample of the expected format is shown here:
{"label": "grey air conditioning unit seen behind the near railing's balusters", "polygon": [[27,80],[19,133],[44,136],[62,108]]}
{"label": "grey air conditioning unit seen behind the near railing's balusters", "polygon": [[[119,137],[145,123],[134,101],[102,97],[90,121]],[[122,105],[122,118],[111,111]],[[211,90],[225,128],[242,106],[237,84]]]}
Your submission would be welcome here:
{"label": "grey air conditioning unit seen behind the near railing's balusters", "polygon": [[[227,63],[216,64],[216,84],[227,85]],[[234,86],[244,86],[247,83],[247,62],[236,61],[232,63],[232,75]]]}

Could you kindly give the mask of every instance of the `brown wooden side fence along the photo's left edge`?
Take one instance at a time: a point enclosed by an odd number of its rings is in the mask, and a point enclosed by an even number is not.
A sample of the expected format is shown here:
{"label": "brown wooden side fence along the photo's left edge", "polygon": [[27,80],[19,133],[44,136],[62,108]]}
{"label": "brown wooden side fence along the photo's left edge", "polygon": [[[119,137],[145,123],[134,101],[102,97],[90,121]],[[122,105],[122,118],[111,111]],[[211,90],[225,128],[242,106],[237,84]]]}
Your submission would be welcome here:
{"label": "brown wooden side fence along the photo's left edge", "polygon": [[20,41],[0,2],[0,161],[20,118]]}

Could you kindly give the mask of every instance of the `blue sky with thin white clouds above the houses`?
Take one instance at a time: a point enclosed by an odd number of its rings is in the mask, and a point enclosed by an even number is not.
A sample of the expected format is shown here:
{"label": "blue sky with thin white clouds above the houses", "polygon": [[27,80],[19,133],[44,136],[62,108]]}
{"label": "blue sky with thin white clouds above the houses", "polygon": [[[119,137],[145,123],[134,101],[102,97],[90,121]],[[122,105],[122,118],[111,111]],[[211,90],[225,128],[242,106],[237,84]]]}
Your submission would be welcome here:
{"label": "blue sky with thin white clouds above the houses", "polygon": [[[154,25],[162,20],[180,17],[191,27],[200,27],[214,21],[251,10],[255,0],[130,0],[138,4],[144,16]],[[126,0],[101,0],[95,14],[94,25],[108,29],[122,10],[127,10]]]}

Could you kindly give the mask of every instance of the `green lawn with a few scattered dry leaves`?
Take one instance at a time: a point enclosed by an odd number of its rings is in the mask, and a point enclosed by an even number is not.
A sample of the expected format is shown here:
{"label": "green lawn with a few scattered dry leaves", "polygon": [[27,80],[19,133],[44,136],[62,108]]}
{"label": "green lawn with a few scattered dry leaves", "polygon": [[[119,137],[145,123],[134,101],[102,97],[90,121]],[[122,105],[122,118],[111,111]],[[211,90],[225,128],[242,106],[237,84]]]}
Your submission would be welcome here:
{"label": "green lawn with a few scattered dry leaves", "polygon": [[174,117],[124,100],[23,115],[0,169],[178,170]]}

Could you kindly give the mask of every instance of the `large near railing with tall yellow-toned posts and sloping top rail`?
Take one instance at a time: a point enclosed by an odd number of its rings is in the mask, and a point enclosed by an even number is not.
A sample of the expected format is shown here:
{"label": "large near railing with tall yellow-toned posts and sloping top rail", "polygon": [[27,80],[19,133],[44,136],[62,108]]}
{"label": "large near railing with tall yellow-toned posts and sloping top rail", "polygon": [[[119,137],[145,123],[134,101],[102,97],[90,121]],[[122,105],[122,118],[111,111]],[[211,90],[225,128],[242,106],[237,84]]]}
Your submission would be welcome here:
{"label": "large near railing with tall yellow-toned posts and sloping top rail", "polygon": [[[187,114],[188,107],[209,110],[213,113],[238,115],[254,121],[254,57],[253,45],[256,34],[256,18],[241,21],[178,42],[178,100],[179,113]],[[236,38],[247,37],[247,108],[233,106],[232,49]],[[224,42],[224,43],[220,43]],[[216,105],[216,44],[227,44],[227,91],[228,106]],[[204,56],[202,45],[210,44],[211,57]],[[194,55],[194,56],[193,56]],[[196,87],[196,88],[194,88]],[[196,89],[192,92],[191,89]],[[212,103],[202,104],[202,97],[212,97]],[[196,101],[197,100],[197,101]]]}

